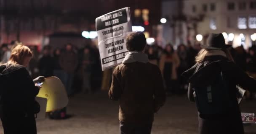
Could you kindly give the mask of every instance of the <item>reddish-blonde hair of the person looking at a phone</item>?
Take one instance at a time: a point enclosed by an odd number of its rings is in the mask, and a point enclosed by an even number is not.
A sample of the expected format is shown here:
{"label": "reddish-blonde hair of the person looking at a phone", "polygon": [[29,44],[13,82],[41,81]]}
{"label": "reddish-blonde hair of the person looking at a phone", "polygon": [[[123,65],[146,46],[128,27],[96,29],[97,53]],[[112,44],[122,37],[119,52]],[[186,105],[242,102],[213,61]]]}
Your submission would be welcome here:
{"label": "reddish-blonde hair of the person looking at a phone", "polygon": [[33,57],[33,53],[27,46],[19,44],[13,48],[7,64],[23,64],[25,57]]}

